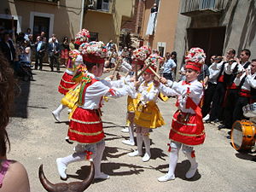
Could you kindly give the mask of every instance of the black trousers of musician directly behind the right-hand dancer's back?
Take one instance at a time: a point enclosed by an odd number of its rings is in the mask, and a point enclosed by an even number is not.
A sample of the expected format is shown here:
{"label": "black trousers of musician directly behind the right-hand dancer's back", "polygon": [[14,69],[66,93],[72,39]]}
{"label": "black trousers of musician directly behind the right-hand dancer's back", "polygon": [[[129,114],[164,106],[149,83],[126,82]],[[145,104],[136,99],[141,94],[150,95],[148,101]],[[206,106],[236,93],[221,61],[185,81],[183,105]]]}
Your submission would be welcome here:
{"label": "black trousers of musician directly behind the right-hand dancer's back", "polygon": [[214,96],[216,86],[217,84],[212,84],[209,82],[207,90],[205,90],[204,102],[201,108],[201,113],[203,117],[207,116],[207,113],[209,113],[211,110],[212,98]]}

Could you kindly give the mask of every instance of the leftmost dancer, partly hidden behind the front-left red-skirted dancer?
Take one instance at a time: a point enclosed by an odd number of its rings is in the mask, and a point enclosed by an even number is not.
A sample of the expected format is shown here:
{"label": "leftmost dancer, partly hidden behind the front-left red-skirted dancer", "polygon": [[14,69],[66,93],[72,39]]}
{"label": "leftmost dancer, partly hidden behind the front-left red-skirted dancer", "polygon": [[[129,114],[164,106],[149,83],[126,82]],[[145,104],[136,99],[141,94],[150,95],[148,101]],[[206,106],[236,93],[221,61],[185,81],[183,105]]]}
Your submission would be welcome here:
{"label": "leftmost dancer, partly hidden behind the front-left red-skirted dancer", "polygon": [[[78,87],[75,86],[75,84],[77,82],[73,81],[73,74],[74,74],[76,68],[83,63],[83,57],[82,57],[82,55],[80,55],[80,51],[78,50],[78,46],[85,43],[85,42],[88,42],[89,38],[90,38],[90,32],[86,29],[81,30],[76,35],[76,38],[75,38],[76,39],[76,42],[75,42],[76,49],[73,49],[69,52],[69,59],[67,61],[67,69],[66,69],[65,73],[63,74],[63,76],[61,78],[61,82],[59,84],[59,92],[61,94],[63,94],[64,96],[67,95],[67,92],[69,90],[74,89],[74,88],[78,89]],[[68,100],[70,100],[69,97],[70,96],[67,96]],[[67,98],[66,98],[66,100],[67,100]],[[61,121],[61,119],[60,119],[61,111],[64,108],[68,107],[68,105],[65,105],[66,102],[64,102],[64,104],[61,102],[59,107],[56,108],[52,112],[55,120],[58,121],[58,122]]]}

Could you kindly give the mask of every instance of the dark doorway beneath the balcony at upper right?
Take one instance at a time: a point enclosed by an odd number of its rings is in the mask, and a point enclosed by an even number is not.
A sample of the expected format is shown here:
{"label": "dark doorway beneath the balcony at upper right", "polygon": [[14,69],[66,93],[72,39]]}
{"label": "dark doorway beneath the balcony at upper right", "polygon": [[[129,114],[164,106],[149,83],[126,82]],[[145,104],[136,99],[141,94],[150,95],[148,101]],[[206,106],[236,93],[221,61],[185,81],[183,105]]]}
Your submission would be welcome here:
{"label": "dark doorway beneath the balcony at upper right", "polygon": [[200,47],[207,54],[206,63],[210,63],[211,55],[223,55],[226,27],[190,28],[188,29],[189,49]]}

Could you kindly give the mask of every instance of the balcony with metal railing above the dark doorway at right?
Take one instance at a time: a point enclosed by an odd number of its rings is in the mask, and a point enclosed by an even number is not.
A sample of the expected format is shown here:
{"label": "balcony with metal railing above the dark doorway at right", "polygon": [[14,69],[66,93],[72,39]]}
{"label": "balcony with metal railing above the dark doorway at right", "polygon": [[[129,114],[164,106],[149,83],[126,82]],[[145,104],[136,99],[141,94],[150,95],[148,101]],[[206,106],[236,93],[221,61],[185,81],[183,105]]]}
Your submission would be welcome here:
{"label": "balcony with metal railing above the dark doorway at right", "polygon": [[181,14],[186,16],[220,15],[224,0],[183,0]]}

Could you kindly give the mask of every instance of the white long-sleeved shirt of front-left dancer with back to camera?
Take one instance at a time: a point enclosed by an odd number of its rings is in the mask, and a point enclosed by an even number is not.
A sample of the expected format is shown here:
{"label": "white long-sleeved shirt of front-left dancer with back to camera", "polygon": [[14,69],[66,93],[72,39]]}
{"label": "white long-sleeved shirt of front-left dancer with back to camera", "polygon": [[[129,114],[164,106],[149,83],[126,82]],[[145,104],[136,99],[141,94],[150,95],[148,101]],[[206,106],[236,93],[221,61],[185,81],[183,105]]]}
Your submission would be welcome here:
{"label": "white long-sleeved shirt of front-left dancer with back to camera", "polygon": [[97,109],[100,108],[100,103],[102,102],[102,96],[109,96],[113,98],[119,98],[121,96],[126,96],[129,93],[129,86],[124,86],[123,88],[114,88],[106,80],[101,80],[95,77],[92,73],[87,73],[92,79],[98,79],[94,84],[91,84],[85,91],[84,105],[79,106],[84,109]]}

